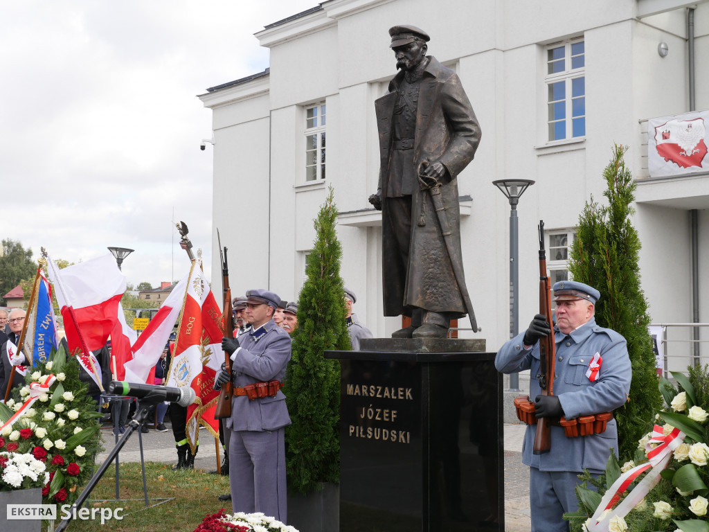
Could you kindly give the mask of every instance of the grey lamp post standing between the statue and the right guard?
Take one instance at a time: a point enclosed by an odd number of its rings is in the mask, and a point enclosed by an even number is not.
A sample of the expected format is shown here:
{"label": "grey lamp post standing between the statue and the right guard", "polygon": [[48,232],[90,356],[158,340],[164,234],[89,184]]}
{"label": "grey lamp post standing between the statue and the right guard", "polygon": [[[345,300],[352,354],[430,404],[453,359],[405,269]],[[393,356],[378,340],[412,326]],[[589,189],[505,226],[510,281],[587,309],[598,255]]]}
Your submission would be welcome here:
{"label": "grey lamp post standing between the statue and the right guard", "polygon": [[[514,338],[518,335],[520,319],[517,204],[527,187],[535,182],[531,179],[498,179],[492,184],[498,187],[510,201],[510,338]],[[510,373],[510,392],[519,392],[519,390],[520,376],[518,373]]]}

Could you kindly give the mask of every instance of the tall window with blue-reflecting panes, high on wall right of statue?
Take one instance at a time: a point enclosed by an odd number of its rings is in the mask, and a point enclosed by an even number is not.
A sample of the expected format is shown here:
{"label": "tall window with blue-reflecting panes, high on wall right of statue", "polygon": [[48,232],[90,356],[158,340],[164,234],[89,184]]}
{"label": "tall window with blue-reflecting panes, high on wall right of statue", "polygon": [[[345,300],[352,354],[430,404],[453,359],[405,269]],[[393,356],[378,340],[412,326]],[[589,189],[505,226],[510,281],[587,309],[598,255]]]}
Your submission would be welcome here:
{"label": "tall window with blue-reflecting panes, high on wall right of statue", "polygon": [[547,124],[549,140],[586,135],[584,40],[569,40],[547,48]]}

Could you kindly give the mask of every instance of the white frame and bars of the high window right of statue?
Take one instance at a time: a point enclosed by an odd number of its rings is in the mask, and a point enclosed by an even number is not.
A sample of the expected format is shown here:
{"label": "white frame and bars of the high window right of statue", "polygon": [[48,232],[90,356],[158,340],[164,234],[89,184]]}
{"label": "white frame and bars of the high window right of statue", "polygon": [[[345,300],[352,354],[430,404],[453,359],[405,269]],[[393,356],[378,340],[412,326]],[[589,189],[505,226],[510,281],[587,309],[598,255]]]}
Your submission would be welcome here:
{"label": "white frame and bars of the high window right of statue", "polygon": [[[584,53],[583,54],[571,54],[571,46],[584,43]],[[549,74],[549,50],[554,50],[555,48],[564,47],[564,70],[562,72],[554,72]],[[549,143],[564,142],[574,139],[581,139],[586,137],[586,42],[584,40],[584,35],[576,37],[573,39],[560,41],[547,45],[544,51],[544,65],[545,65],[545,114],[546,117],[546,131],[545,136]],[[584,66],[579,68],[571,68],[572,57],[578,57],[579,55],[584,56]],[[583,96],[573,96],[572,86],[573,80],[584,78],[584,95]],[[552,128],[552,123],[560,122],[560,120],[552,120],[549,116],[549,106],[558,103],[562,100],[550,100],[549,99],[549,85],[554,83],[564,82],[564,102],[565,102],[565,113],[564,113],[564,138],[552,138],[552,133],[550,129]],[[584,98],[584,114],[580,116],[573,116],[574,114],[574,100]],[[574,119],[583,118],[584,120],[584,134],[574,136]]]}

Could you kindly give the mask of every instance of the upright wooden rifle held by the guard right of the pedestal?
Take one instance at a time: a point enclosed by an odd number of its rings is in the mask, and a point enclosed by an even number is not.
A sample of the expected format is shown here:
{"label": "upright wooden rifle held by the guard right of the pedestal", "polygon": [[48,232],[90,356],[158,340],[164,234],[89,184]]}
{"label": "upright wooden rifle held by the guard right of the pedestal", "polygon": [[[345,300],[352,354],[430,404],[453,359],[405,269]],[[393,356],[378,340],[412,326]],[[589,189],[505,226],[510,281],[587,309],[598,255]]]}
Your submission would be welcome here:
{"label": "upright wooden rifle held by the guard right of the pedestal", "polygon": [[[542,395],[554,395],[554,359],[557,346],[554,343],[554,326],[552,325],[552,287],[547,277],[547,253],[544,248],[544,221],[539,221],[539,314],[547,316],[547,323],[552,333],[546,338],[540,338],[540,365],[541,376],[539,379]],[[541,455],[548,453],[552,448],[551,419],[540,418],[537,420],[537,432],[534,438],[533,453]]]}

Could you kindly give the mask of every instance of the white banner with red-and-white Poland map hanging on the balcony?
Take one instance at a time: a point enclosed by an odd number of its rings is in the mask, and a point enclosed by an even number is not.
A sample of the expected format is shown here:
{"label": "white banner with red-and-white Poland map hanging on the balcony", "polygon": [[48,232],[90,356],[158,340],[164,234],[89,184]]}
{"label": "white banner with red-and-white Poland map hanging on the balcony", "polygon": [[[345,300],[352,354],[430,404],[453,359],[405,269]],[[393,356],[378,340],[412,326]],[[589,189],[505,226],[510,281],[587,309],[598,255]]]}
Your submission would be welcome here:
{"label": "white banner with red-and-white Poland map hanging on the balcony", "polygon": [[647,121],[647,170],[650,177],[709,171],[709,111]]}

